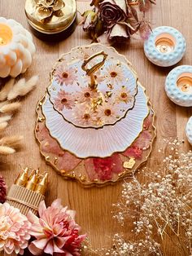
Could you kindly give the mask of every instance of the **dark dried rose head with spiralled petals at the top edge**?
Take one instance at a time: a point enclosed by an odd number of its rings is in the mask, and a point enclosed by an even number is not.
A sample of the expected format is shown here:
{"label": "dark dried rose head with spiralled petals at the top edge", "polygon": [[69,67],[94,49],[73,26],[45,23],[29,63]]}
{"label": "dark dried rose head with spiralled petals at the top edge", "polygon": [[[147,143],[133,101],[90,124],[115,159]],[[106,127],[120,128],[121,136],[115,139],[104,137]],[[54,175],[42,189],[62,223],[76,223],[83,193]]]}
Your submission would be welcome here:
{"label": "dark dried rose head with spiralled petals at the top edge", "polygon": [[120,4],[117,2],[115,0],[107,0],[99,5],[100,18],[107,29],[111,29],[118,22],[127,19],[126,9],[122,9],[122,7],[126,7],[124,0],[121,0]]}

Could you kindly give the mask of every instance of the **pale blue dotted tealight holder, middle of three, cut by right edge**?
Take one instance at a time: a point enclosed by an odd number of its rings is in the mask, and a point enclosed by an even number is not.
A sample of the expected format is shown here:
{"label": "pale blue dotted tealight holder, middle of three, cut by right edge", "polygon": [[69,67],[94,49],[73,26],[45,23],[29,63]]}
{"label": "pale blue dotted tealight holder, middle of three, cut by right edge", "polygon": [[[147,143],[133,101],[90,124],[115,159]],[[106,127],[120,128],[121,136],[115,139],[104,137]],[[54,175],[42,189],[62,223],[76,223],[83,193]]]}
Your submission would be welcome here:
{"label": "pale blue dotted tealight holder, middle of three, cut by right edge", "polygon": [[183,107],[192,106],[192,66],[173,68],[165,82],[168,98]]}

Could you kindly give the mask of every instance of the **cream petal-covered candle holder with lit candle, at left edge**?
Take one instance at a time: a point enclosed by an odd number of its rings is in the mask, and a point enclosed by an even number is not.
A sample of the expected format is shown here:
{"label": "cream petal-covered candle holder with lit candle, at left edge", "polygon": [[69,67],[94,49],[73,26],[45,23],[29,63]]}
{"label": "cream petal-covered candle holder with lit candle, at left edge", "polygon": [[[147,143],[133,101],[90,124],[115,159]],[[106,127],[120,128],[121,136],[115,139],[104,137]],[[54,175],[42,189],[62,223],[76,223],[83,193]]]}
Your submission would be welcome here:
{"label": "cream petal-covered candle holder with lit candle, at left edge", "polygon": [[33,38],[15,20],[0,17],[0,77],[17,77],[32,63]]}

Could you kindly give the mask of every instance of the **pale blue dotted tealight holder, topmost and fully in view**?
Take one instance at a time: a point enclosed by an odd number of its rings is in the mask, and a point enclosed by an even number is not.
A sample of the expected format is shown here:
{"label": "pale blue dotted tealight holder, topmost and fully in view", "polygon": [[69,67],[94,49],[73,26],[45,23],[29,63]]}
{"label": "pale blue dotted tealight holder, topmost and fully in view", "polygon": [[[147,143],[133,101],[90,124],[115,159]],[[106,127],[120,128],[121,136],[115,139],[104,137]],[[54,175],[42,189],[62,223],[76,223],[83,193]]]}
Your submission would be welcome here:
{"label": "pale blue dotted tealight holder, topmost and fully in view", "polygon": [[161,67],[177,64],[185,54],[185,38],[172,27],[162,26],[144,43],[144,51],[148,60]]}

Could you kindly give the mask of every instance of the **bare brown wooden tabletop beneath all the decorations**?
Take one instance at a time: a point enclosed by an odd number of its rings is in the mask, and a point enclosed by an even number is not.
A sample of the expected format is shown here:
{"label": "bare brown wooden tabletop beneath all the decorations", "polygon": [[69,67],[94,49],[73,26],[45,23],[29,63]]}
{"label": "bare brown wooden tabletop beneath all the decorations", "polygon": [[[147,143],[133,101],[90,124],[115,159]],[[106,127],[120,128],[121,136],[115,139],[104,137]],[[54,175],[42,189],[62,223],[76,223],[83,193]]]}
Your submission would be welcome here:
{"label": "bare brown wooden tabletop beneath all the decorations", "polygon": [[[28,23],[24,15],[24,0],[1,0],[1,15],[19,21],[28,29]],[[78,9],[82,12],[89,7],[88,2],[78,2]],[[150,13],[152,27],[161,25],[173,26],[183,33],[187,42],[185,57],[179,64],[192,64],[192,29],[191,29],[191,0],[157,0],[157,5]],[[72,36],[63,42],[46,43],[33,37],[37,47],[37,53],[33,59],[33,64],[28,68],[24,77],[39,74],[40,82],[37,89],[23,100],[20,113],[15,115],[11,121],[11,126],[7,133],[24,135],[24,148],[11,157],[1,157],[0,174],[7,181],[7,185],[15,180],[20,171],[20,165],[32,166],[46,170],[50,175],[49,190],[46,196],[47,205],[55,198],[62,198],[63,205],[68,205],[76,210],[76,220],[81,224],[82,232],[86,232],[92,241],[94,248],[111,245],[110,236],[115,232],[120,232],[120,227],[111,218],[111,205],[116,203],[120,196],[122,183],[105,188],[82,188],[79,183],[63,180],[55,173],[50,166],[46,166],[40,155],[36,139],[33,134],[37,100],[44,95],[46,86],[49,83],[49,73],[58,59],[59,55],[70,51],[72,47],[89,44],[90,40],[82,32],[81,26],[76,27]],[[107,43],[107,42],[104,42]],[[181,108],[172,104],[164,92],[164,81],[168,72],[172,68],[159,68],[151,64],[143,53],[142,42],[132,39],[126,49],[117,48],[120,53],[133,63],[133,67],[138,73],[138,77],[143,86],[146,86],[146,93],[151,99],[157,118],[157,139],[151,157],[155,157],[162,140],[168,137],[179,137],[185,139],[185,124],[192,114],[191,108]],[[186,139],[185,139],[186,140]],[[187,142],[184,148],[189,148]],[[147,166],[151,161],[147,162]],[[122,232],[129,232],[127,227],[121,229]],[[1,254],[3,255],[3,254]],[[174,249],[168,245],[167,255],[176,256]]]}

